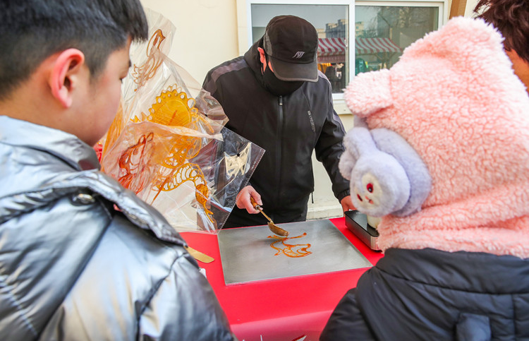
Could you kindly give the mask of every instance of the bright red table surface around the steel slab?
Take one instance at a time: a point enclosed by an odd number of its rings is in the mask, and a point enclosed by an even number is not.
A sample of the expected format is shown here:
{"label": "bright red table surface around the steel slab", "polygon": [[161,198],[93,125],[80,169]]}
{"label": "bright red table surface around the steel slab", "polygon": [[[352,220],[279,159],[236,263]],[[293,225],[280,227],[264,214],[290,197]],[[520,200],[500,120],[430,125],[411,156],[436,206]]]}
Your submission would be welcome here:
{"label": "bright red table surface around the steel slab", "polygon": [[[343,217],[330,220],[372,264],[382,253],[372,251],[349,231]],[[242,227],[244,228],[244,227]],[[369,268],[262,280],[226,286],[216,234],[183,232],[189,246],[212,256],[205,268],[240,341],[318,340],[325,323],[343,295],[356,286]]]}

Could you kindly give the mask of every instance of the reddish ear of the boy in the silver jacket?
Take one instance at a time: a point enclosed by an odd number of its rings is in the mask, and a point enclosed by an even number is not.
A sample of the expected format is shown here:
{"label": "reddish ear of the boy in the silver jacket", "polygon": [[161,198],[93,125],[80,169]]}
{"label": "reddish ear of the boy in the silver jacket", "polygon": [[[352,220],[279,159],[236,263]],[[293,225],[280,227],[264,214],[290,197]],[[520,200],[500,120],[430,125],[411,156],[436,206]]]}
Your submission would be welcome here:
{"label": "reddish ear of the boy in the silver jacket", "polygon": [[57,56],[48,82],[53,95],[63,107],[72,104],[72,92],[79,81],[79,71],[85,63],[85,55],[78,49],[66,49]]}

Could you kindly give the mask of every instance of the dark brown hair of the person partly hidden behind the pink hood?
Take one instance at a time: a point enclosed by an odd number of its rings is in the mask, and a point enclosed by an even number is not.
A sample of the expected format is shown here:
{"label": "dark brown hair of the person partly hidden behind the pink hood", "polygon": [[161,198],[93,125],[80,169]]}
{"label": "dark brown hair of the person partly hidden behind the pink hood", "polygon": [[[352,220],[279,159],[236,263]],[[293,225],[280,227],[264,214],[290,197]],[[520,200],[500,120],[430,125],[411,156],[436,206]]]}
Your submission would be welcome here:
{"label": "dark brown hair of the person partly hidden behind the pink hood", "polygon": [[529,63],[528,0],[480,0],[474,11],[501,32],[507,51],[514,50]]}

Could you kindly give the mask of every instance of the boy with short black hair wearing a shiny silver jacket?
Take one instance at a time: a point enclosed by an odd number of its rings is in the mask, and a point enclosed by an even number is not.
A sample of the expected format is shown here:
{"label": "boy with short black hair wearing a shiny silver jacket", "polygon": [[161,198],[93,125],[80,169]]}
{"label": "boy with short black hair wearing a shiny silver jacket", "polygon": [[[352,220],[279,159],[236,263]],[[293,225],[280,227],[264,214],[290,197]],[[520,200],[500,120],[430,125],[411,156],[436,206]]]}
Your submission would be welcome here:
{"label": "boy with short black hair wearing a shiny silver jacket", "polygon": [[99,172],[139,0],[0,2],[0,340],[235,340],[180,234]]}

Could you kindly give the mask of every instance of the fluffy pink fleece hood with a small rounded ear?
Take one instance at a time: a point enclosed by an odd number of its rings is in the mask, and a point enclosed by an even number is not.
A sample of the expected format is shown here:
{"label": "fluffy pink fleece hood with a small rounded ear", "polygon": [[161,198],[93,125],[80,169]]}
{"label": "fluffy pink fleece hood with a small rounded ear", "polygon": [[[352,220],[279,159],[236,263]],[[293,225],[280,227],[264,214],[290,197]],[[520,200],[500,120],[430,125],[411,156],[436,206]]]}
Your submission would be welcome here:
{"label": "fluffy pink fleece hood with a small rounded ear", "polygon": [[[370,130],[399,134],[431,177],[413,213],[382,218],[383,250],[529,258],[529,96],[502,39],[480,19],[454,18],[411,44],[391,69],[348,85],[351,112]],[[348,150],[342,159],[355,162]],[[350,168],[341,172],[351,177]]]}

